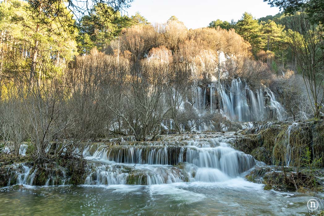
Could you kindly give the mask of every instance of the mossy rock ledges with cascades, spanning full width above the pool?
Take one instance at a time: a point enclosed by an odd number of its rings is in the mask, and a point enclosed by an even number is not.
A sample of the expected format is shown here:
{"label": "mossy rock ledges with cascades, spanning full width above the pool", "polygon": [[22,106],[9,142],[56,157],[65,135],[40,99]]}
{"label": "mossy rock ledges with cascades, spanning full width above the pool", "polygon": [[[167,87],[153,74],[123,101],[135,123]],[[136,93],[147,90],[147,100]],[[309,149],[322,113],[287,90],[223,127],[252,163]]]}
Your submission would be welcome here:
{"label": "mossy rock ledges with cascades, spanning full width above the pool", "polygon": [[[323,120],[250,125],[255,127],[159,135],[143,142],[132,136],[100,139],[88,143],[80,157],[62,155],[41,165],[34,164],[24,144],[24,155],[0,154],[0,187],[213,182],[239,176],[257,164],[262,167],[250,171],[246,179],[264,184],[265,189],[321,190],[324,175],[316,166],[323,167]],[[305,165],[307,151],[312,170],[294,168]]]}

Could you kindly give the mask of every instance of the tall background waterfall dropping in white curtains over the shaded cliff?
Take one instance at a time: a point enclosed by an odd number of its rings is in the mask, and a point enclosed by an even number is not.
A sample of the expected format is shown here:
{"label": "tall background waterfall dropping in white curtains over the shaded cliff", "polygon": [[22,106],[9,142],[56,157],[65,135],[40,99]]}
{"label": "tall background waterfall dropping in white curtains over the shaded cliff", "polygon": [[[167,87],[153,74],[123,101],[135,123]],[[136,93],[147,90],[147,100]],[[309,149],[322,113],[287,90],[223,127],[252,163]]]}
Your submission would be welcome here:
{"label": "tall background waterfall dropping in white curtains over the shaded cliff", "polygon": [[222,83],[219,87],[217,82],[213,82],[205,89],[196,87],[195,108],[216,112],[218,96],[215,92],[220,94],[222,113],[232,121],[283,120],[285,117],[283,106],[269,88],[262,87],[254,92],[240,78],[233,79],[230,85]]}

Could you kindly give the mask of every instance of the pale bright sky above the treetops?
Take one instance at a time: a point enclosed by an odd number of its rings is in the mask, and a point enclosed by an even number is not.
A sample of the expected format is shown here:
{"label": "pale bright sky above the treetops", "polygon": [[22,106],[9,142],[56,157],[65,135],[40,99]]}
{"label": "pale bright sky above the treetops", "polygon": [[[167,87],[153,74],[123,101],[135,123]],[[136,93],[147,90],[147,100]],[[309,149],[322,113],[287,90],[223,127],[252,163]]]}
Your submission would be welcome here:
{"label": "pale bright sky above the treetops", "polygon": [[206,27],[216,19],[237,21],[244,12],[255,18],[275,15],[279,8],[270,7],[263,0],[134,0],[126,14],[132,16],[137,11],[152,24],[165,23],[176,16],[188,29],[195,29]]}

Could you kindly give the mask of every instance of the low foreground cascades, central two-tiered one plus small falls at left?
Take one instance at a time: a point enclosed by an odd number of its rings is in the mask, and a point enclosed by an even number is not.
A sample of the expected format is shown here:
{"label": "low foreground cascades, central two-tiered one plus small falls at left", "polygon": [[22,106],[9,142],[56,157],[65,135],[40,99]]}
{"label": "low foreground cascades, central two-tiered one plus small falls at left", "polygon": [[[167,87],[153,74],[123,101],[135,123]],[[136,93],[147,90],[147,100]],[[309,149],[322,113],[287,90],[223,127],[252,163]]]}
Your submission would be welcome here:
{"label": "low foreground cascades, central two-tiered one plus small falls at left", "polygon": [[[176,182],[226,181],[251,169],[255,159],[231,147],[233,133],[160,135],[159,141],[133,141],[132,136],[107,139],[83,154],[86,185],[152,185]],[[24,146],[25,147],[25,146]],[[23,147],[23,148],[24,148]],[[287,147],[288,148],[288,147]],[[47,167],[45,186],[69,183],[67,170]],[[16,184],[33,185],[38,170],[25,164],[9,166]],[[37,175],[36,175],[37,174]]]}

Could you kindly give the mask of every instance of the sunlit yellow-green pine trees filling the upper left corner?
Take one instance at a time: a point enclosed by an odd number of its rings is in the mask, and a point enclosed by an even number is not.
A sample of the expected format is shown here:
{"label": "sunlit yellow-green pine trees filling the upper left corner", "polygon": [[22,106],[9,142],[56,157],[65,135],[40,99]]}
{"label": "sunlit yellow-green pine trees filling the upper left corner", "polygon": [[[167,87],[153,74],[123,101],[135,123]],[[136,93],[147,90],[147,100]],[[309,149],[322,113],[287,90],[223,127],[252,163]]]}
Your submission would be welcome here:
{"label": "sunlit yellow-green pine trees filling the upper left corner", "polygon": [[52,65],[51,68],[57,71],[61,63],[72,60],[76,55],[77,31],[71,12],[60,10],[57,19],[45,23],[41,23],[40,19],[50,20],[51,17],[39,14],[39,18],[35,18],[30,14],[26,1],[13,0],[0,4],[0,71],[3,74],[6,70],[7,77],[13,75],[13,67],[20,67],[24,70],[30,68],[30,75],[40,79],[51,73],[44,70],[50,68],[46,65]]}

